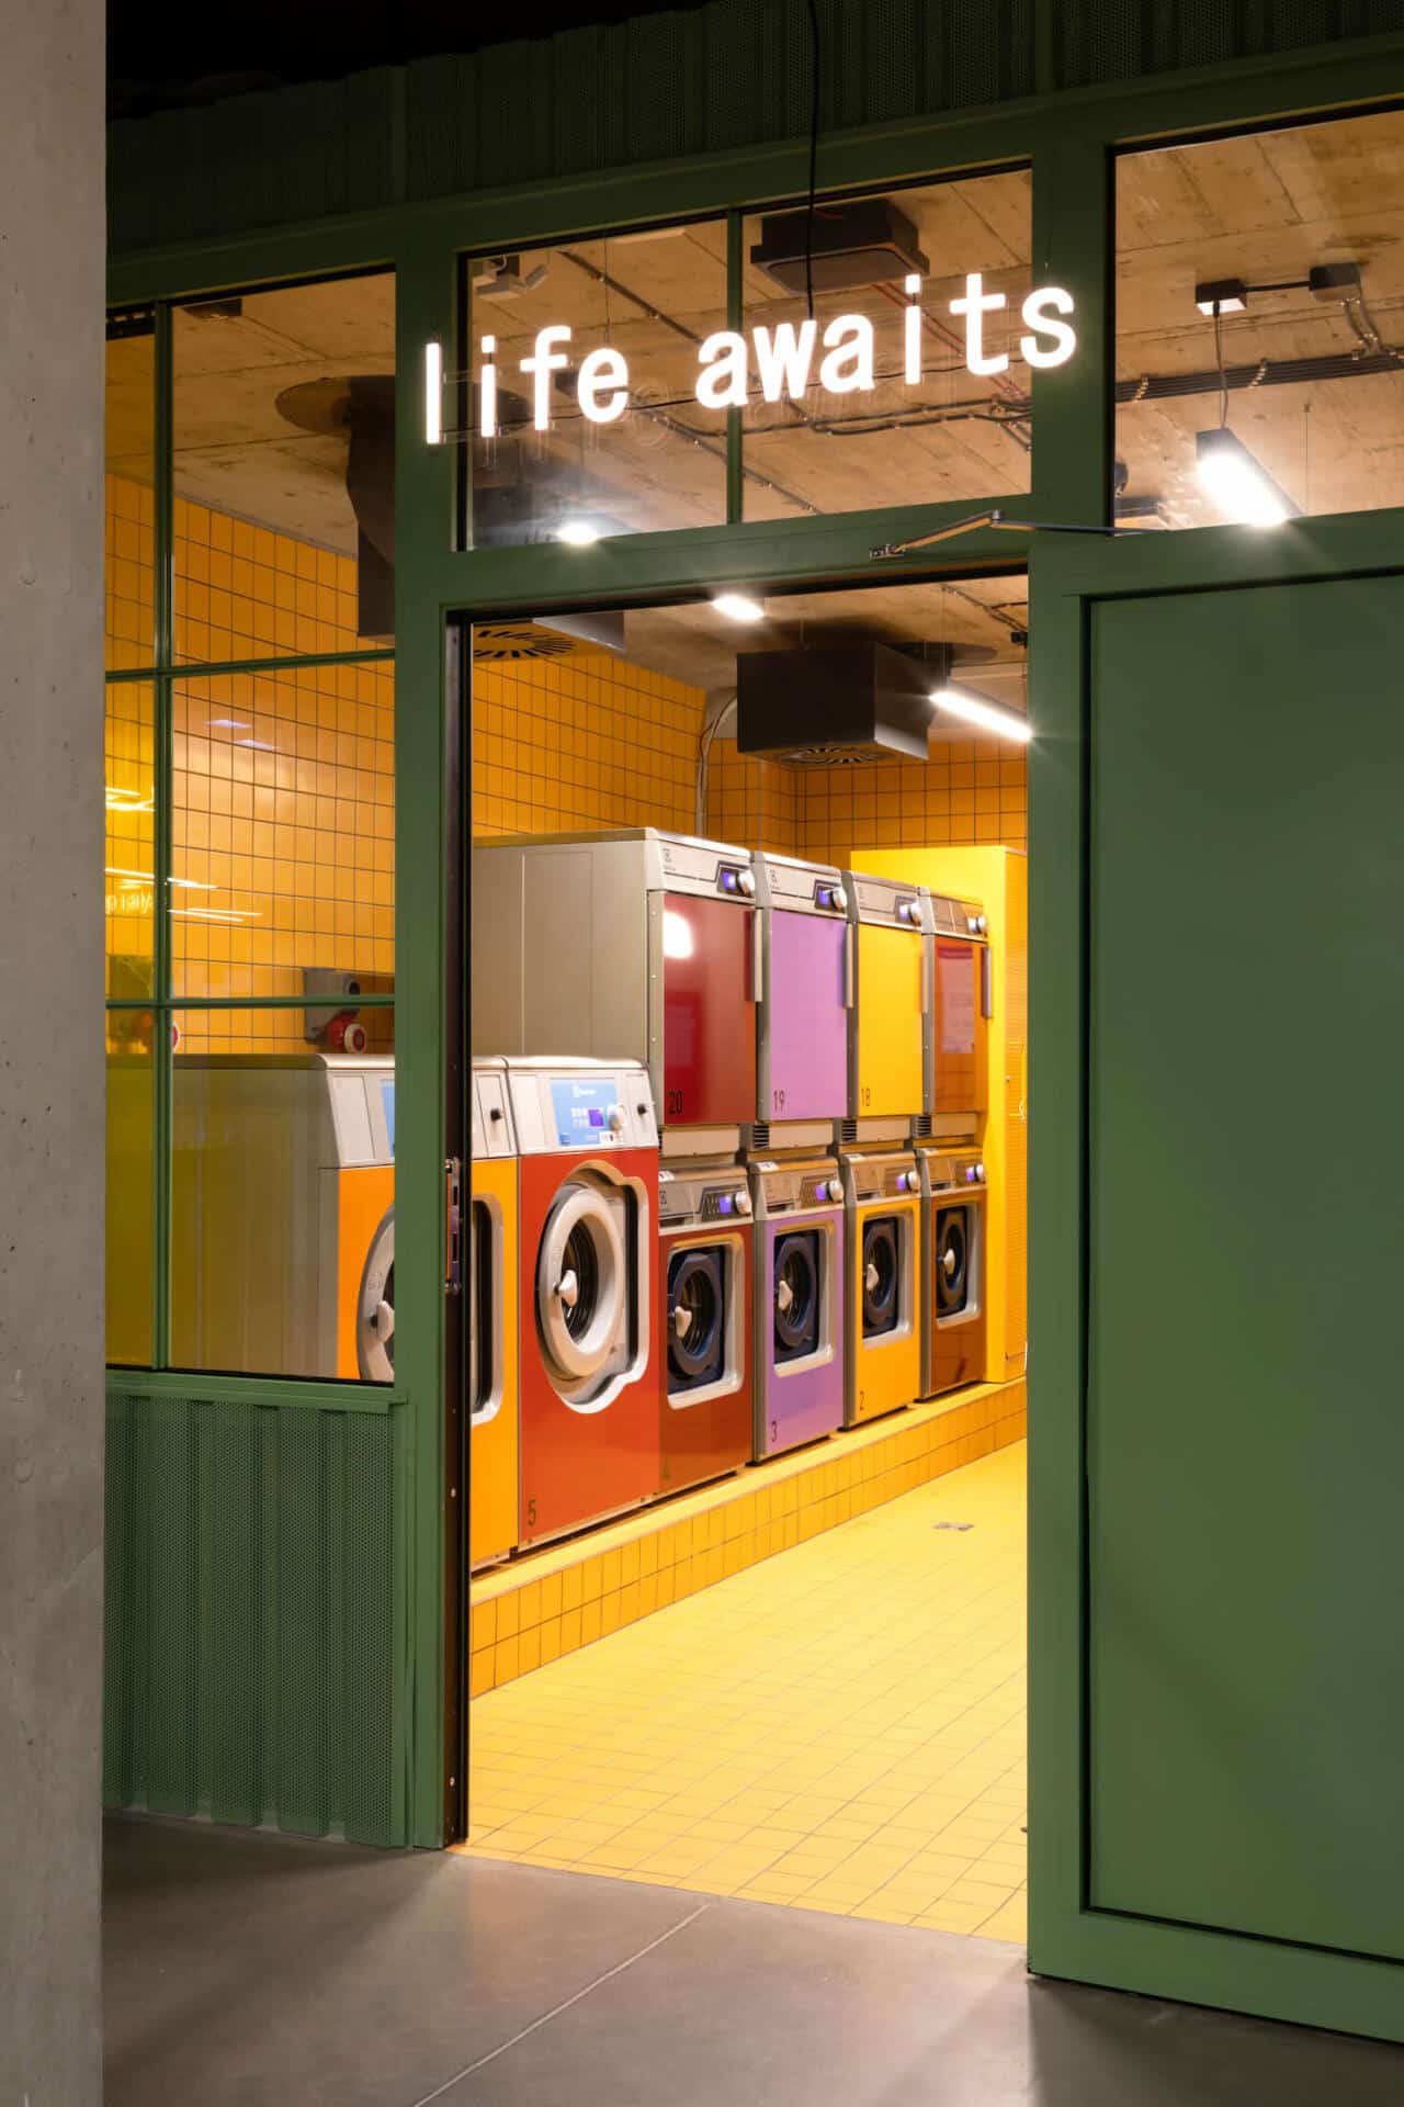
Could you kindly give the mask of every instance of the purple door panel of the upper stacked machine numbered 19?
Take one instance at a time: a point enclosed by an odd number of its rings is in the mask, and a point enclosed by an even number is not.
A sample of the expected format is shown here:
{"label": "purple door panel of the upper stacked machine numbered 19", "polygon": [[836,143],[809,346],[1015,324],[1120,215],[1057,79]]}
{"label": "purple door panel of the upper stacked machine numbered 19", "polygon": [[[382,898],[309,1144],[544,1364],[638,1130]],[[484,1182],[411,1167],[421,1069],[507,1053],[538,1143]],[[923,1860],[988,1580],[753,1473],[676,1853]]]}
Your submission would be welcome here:
{"label": "purple door panel of the upper stacked machine numbered 19", "polygon": [[848,927],[817,914],[770,914],[764,988],[768,1075],[760,1119],[844,1119],[848,1112]]}

